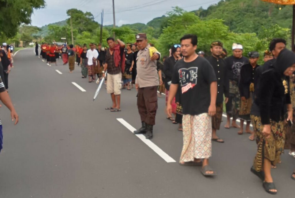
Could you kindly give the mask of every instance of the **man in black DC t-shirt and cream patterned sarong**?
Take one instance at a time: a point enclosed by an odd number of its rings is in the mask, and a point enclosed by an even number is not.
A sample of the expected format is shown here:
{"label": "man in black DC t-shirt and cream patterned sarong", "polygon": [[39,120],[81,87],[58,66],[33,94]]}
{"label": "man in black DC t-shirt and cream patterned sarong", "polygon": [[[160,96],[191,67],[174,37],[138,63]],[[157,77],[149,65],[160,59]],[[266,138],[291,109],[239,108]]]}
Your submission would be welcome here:
{"label": "man in black DC t-shirt and cream patterned sarong", "polygon": [[171,102],[180,86],[183,108],[183,149],[180,164],[202,165],[202,174],[213,176],[216,172],[209,167],[209,157],[212,154],[211,117],[216,114],[216,76],[212,65],[195,52],[198,42],[196,35],[185,35],[180,41],[184,59],[176,63],[173,71],[167,112],[171,116]]}

